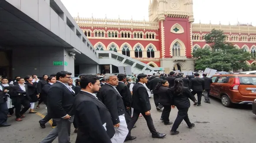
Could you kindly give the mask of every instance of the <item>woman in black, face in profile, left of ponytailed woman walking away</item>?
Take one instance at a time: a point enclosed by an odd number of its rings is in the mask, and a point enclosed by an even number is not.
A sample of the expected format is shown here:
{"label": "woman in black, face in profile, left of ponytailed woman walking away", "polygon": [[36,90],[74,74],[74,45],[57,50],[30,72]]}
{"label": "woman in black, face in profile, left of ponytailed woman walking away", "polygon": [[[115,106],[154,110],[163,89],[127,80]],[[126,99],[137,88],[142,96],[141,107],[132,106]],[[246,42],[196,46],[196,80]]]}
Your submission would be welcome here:
{"label": "woman in black, face in profile, left of ponytailed woman walking away", "polygon": [[158,94],[158,102],[163,105],[161,119],[165,125],[171,125],[173,122],[169,122],[169,115],[171,112],[171,91],[169,89],[169,82],[162,80],[155,86],[155,92]]}

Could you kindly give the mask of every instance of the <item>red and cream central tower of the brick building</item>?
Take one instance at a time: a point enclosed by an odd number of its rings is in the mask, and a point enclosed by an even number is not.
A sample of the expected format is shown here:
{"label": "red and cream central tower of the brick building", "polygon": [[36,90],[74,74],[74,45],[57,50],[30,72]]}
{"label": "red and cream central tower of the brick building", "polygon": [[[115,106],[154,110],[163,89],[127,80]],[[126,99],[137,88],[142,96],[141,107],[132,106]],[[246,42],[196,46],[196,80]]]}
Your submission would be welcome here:
{"label": "red and cream central tower of the brick building", "polygon": [[193,0],[150,0],[149,20],[159,22],[161,67],[166,72],[193,69]]}

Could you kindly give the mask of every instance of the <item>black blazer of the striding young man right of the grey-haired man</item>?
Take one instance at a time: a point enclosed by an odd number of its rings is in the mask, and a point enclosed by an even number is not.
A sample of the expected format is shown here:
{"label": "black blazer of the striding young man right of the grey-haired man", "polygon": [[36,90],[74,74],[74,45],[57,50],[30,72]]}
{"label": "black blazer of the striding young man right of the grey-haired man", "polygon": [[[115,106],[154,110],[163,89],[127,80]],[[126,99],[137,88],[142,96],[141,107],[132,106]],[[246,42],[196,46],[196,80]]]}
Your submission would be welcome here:
{"label": "black blazer of the striding young man right of the grey-haired man", "polygon": [[147,89],[141,83],[137,83],[132,88],[132,107],[141,112],[151,110]]}

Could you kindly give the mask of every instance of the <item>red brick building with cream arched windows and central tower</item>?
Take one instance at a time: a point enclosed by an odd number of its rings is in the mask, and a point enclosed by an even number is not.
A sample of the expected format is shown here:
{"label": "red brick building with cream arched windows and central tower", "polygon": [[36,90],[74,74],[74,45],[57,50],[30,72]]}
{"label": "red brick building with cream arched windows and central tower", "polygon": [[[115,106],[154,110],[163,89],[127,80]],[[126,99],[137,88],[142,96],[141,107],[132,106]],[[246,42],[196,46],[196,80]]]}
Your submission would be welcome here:
{"label": "red brick building with cream arched windows and central tower", "polygon": [[[75,18],[96,50],[113,50],[152,67],[194,69],[192,51],[206,46],[204,35],[221,29],[237,48],[256,54],[256,27],[248,24],[193,24],[192,0],[149,0],[149,21]],[[248,65],[256,64],[248,61]]]}

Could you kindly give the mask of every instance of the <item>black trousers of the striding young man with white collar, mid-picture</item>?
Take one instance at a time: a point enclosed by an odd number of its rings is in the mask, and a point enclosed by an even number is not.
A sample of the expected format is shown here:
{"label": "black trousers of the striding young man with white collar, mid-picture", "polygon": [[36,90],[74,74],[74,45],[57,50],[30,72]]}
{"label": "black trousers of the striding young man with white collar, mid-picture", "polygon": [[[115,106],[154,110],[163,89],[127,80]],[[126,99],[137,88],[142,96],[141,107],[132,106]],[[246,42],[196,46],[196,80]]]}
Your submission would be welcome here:
{"label": "black trousers of the striding young man with white collar, mid-picture", "polygon": [[151,115],[146,115],[144,111],[140,111],[140,110],[136,110],[134,109],[133,110],[133,116],[132,116],[132,119],[131,121],[129,122],[127,128],[129,130],[129,133],[127,136],[131,136],[131,131],[132,131],[132,127],[135,125],[135,123],[137,122],[138,118],[139,118],[139,114],[142,114],[143,117],[145,118],[146,122],[147,122],[147,127],[148,129],[150,130],[150,132],[155,135],[157,134],[158,132],[156,131],[156,129],[154,128],[154,124],[153,124],[153,120],[152,120],[152,117]]}

